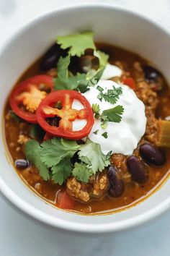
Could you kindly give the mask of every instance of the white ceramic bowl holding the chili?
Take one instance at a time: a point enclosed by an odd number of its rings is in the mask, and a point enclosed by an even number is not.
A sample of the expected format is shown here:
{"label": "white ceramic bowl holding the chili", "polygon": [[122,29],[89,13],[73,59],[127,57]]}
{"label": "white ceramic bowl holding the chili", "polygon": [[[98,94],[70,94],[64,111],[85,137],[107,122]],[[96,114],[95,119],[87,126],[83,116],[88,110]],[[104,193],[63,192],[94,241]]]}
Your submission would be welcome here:
{"label": "white ceramic bowl holding the chili", "polygon": [[[107,4],[65,7],[32,20],[8,40],[0,54],[0,115],[18,77],[50,46],[56,35],[94,30],[95,39],[127,48],[153,61],[170,80],[170,36],[151,20]],[[3,123],[4,125],[4,123]],[[4,127],[1,129],[4,137]],[[83,216],[53,208],[33,194],[19,179],[0,145],[0,191],[27,215],[50,226],[86,233],[127,229],[158,216],[170,206],[170,180],[151,197],[128,210],[105,215]]]}

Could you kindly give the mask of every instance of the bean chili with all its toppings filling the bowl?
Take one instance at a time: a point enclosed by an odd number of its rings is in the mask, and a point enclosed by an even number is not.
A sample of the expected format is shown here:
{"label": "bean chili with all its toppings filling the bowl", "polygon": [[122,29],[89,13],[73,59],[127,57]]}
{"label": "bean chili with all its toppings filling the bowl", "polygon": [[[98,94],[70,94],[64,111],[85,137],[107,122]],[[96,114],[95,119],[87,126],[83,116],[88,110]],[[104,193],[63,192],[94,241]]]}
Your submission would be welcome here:
{"label": "bean chili with all its toppings filling the bowl", "polygon": [[170,90],[146,59],[81,36],[73,45],[58,37],[14,85],[6,144],[19,176],[50,204],[110,213],[169,174]]}

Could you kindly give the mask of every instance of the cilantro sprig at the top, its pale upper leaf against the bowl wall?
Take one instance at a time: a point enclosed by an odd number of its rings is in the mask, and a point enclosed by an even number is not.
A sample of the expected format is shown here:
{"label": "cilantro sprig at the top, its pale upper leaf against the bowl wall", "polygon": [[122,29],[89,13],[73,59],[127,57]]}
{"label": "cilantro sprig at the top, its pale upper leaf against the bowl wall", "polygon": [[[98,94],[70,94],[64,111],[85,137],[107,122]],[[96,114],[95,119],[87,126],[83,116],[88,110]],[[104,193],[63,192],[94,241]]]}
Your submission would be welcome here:
{"label": "cilantro sprig at the top, its pale upper leaf against the bowl wall", "polygon": [[[65,58],[61,57],[58,61],[58,77],[54,79],[55,90],[79,90],[81,93],[85,93],[91,86],[96,85],[102,77],[109,56],[102,51],[96,50],[93,33],[90,31],[58,36],[57,43],[61,45],[61,48],[69,48],[69,50],[68,56]],[[71,56],[80,57],[88,48],[94,49],[94,56],[99,59],[99,69],[97,71],[91,69],[87,74],[68,74]]]}

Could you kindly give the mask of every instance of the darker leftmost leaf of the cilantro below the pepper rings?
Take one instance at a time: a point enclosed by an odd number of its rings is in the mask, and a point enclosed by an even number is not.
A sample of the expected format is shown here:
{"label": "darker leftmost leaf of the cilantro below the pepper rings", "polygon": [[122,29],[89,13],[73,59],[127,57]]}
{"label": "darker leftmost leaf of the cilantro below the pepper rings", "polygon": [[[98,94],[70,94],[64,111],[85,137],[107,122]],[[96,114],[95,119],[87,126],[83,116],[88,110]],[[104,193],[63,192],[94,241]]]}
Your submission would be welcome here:
{"label": "darker leftmost leaf of the cilantro below the pepper rings", "polygon": [[50,179],[48,172],[48,166],[46,166],[40,159],[40,144],[35,140],[29,140],[25,145],[25,155],[27,159],[35,165],[38,169],[40,176],[42,176],[45,181]]}

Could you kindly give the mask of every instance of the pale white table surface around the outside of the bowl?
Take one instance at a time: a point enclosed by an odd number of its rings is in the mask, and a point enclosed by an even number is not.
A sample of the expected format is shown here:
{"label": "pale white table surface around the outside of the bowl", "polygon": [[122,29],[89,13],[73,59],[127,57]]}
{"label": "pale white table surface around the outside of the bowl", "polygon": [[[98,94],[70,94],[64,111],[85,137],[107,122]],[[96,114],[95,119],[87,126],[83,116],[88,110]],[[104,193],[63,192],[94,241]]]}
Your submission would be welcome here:
{"label": "pale white table surface around the outside of the bowl", "polygon": [[[90,2],[88,0],[84,0]],[[95,1],[95,0],[94,0]],[[93,1],[93,2],[94,2]],[[0,0],[0,47],[33,17],[76,0]],[[151,17],[170,30],[170,0],[107,0]],[[109,236],[73,237],[35,223],[0,198],[0,256],[169,256],[170,211],[143,226]]]}

